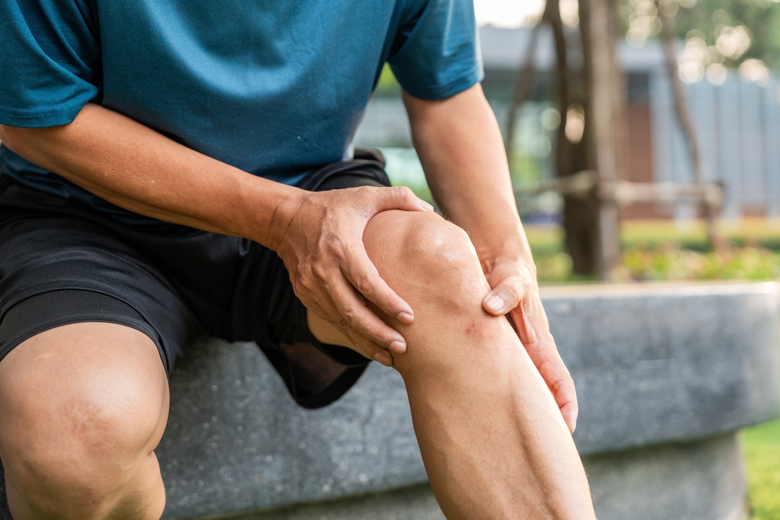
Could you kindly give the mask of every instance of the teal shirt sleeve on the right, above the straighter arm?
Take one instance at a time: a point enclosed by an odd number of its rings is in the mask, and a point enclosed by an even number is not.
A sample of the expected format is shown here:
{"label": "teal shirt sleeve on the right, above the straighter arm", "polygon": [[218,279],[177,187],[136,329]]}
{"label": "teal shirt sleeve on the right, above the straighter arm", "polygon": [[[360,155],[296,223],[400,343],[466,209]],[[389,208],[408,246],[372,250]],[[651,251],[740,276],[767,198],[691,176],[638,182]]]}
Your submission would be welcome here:
{"label": "teal shirt sleeve on the right, above the straighter arm", "polygon": [[388,63],[414,97],[444,99],[484,77],[473,0],[427,0],[393,47]]}

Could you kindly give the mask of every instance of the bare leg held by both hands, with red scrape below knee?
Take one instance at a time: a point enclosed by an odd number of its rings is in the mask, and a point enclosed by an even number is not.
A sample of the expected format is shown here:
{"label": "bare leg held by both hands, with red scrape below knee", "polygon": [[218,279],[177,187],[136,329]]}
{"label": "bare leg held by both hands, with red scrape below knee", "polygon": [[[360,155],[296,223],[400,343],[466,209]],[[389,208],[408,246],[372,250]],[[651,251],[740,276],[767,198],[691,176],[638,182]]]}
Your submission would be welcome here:
{"label": "bare leg held by both hands, with red scrape below knee", "polygon": [[[393,354],[431,486],[447,518],[594,518],[587,479],[550,391],[504,317],[465,232],[434,214],[385,211],[363,236],[415,311]],[[324,341],[339,333],[313,315]],[[346,340],[342,338],[342,344]]]}

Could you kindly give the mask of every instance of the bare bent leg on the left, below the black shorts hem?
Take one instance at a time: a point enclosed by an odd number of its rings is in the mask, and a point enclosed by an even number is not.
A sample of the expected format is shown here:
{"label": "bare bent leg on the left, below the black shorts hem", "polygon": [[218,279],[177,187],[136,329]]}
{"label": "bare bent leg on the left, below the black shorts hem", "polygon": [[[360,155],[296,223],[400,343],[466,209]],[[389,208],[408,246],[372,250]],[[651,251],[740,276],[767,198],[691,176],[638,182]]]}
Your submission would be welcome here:
{"label": "bare bent leg on the left, below the black shorts hem", "polygon": [[64,325],[0,363],[0,457],[16,520],[158,520],[168,418],[157,347],[130,327]]}

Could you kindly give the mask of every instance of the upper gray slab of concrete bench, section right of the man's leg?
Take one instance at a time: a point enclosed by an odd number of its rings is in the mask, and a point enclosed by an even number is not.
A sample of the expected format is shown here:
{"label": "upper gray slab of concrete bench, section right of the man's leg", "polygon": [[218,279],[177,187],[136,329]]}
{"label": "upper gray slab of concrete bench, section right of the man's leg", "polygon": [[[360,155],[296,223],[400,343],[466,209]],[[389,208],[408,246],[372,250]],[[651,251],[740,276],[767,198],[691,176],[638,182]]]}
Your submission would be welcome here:
{"label": "upper gray slab of concrete bench, section right of the man's leg", "polygon": [[591,285],[544,297],[583,455],[708,437],[780,412],[780,284]]}

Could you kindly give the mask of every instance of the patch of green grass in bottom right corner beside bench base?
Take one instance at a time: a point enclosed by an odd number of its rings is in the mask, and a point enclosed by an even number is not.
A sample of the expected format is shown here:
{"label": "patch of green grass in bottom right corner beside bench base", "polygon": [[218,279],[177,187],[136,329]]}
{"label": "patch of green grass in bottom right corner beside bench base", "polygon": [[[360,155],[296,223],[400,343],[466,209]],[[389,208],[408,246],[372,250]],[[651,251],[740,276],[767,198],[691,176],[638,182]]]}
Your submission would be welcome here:
{"label": "patch of green grass in bottom right corner beside bench base", "polygon": [[742,432],[752,520],[780,520],[780,419]]}

